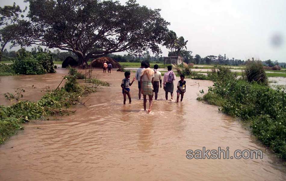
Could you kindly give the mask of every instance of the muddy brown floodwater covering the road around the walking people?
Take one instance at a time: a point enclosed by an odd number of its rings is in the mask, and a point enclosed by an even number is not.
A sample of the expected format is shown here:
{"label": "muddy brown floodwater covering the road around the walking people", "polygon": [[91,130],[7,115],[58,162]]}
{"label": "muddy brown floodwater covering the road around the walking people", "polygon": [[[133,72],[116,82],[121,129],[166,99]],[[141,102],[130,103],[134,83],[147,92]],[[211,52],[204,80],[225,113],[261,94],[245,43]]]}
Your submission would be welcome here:
{"label": "muddy brown floodwater covering the road around the walking people", "polygon": [[[66,73],[0,77],[0,93],[23,87],[24,98],[37,100],[44,94],[39,90],[57,87]],[[131,86],[132,104],[123,105],[123,73],[96,70],[94,76],[111,86],[85,97],[88,109],[77,105],[76,113],[59,120],[24,124],[23,131],[0,145],[0,180],[286,180],[284,163],[246,126],[196,100],[211,81],[187,79],[182,103],[164,100],[160,89],[147,114],[137,82]],[[195,83],[199,86],[190,86]],[[230,155],[261,149],[263,159],[186,158],[188,149],[202,147],[229,147]]]}

